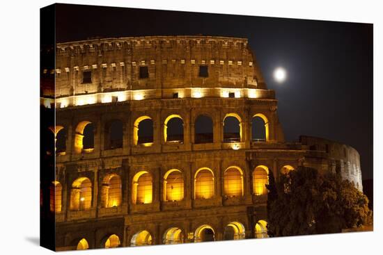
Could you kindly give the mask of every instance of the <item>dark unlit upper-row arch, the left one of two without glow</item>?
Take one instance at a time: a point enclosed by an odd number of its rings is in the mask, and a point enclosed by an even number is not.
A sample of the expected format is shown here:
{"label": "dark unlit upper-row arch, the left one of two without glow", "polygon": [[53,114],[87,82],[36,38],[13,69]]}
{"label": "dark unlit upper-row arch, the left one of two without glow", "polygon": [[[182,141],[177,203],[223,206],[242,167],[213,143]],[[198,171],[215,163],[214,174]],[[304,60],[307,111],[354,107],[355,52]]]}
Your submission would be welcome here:
{"label": "dark unlit upper-row arch, the left one of two without glow", "polygon": [[105,126],[105,149],[123,147],[123,122],[113,120]]}

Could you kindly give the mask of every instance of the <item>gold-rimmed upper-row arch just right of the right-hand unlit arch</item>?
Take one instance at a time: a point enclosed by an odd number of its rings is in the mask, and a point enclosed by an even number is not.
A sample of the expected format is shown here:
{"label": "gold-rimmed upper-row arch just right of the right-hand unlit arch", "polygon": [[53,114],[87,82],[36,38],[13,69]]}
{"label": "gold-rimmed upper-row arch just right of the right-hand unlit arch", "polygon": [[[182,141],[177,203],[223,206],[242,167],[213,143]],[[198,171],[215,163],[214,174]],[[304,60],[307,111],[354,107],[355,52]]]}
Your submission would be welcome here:
{"label": "gold-rimmed upper-row arch just right of the right-hand unlit arch", "polygon": [[239,115],[228,113],[224,118],[224,142],[242,141],[242,121]]}

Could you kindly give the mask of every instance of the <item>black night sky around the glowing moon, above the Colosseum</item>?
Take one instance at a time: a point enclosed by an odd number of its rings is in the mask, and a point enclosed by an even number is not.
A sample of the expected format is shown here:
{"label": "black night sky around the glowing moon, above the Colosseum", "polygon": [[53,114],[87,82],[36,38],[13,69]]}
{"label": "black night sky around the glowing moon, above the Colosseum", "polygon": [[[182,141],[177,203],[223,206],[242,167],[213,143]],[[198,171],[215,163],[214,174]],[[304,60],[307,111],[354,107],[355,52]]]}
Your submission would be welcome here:
{"label": "black night sky around the glowing moon, above the Colosseum", "polygon": [[[351,145],[373,178],[373,25],[58,4],[56,41],[95,36],[221,35],[248,38],[276,91],[286,140],[313,135]],[[288,78],[272,73],[284,67]]]}

